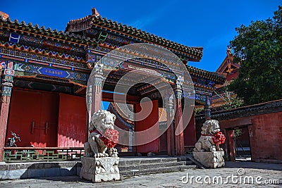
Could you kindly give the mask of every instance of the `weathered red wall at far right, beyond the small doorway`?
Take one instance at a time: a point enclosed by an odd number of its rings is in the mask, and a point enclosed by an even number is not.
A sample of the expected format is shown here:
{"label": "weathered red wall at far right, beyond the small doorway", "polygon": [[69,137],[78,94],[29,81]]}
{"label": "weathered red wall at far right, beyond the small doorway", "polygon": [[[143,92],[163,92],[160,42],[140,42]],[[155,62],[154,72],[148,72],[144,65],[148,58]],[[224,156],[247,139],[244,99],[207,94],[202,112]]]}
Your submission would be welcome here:
{"label": "weathered red wall at far right, beyond the small doorway", "polygon": [[252,160],[282,161],[282,112],[253,116],[249,134]]}

